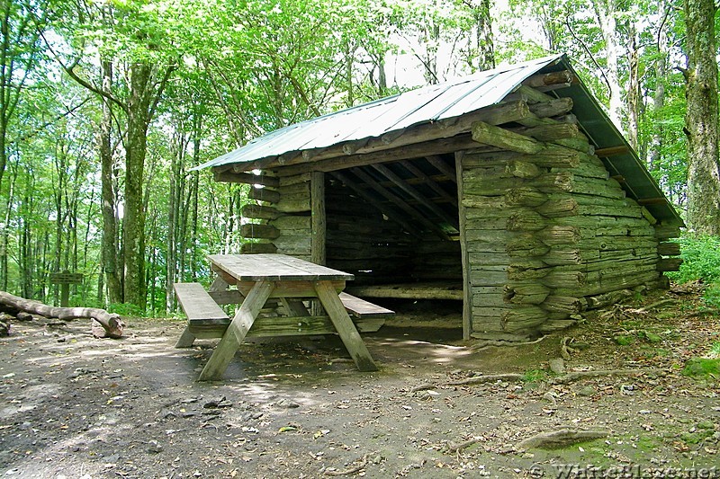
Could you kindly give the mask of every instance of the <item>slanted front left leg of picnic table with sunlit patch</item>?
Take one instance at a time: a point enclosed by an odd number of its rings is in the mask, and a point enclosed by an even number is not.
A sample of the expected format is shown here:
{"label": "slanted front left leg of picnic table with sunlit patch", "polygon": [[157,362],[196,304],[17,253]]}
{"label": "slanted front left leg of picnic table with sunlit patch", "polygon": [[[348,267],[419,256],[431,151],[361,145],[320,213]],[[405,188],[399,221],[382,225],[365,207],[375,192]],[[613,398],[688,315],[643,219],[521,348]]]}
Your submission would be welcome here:
{"label": "slanted front left leg of picnic table with sunlit patch", "polygon": [[230,360],[235,356],[240,343],[245,340],[247,332],[255,323],[257,314],[265,306],[267,298],[270,297],[273,289],[275,289],[275,282],[273,281],[259,281],[250,289],[245,301],[242,302],[235,317],[232,318],[228,329],[222,335],[218,346],[212,351],[210,360],[202,368],[198,381],[220,379],[222,373],[228,368]]}

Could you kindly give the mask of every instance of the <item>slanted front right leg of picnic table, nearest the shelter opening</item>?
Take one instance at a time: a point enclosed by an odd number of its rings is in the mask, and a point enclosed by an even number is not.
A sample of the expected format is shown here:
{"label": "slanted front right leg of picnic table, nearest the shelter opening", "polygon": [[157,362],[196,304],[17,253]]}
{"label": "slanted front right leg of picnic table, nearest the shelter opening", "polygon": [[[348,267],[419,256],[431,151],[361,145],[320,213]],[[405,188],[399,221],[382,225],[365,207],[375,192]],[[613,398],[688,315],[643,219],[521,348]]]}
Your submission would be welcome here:
{"label": "slanted front right leg of picnic table, nearest the shelter opening", "polygon": [[330,316],[330,321],[338,330],[340,339],[345,344],[350,357],[355,360],[356,366],[361,371],[377,371],[377,366],[370,351],[367,350],[363,338],[357,333],[355,324],[353,324],[350,316],[347,315],[345,306],[343,306],[338,297],[338,292],[333,288],[329,281],[315,281],[315,291],[318,293],[320,303]]}

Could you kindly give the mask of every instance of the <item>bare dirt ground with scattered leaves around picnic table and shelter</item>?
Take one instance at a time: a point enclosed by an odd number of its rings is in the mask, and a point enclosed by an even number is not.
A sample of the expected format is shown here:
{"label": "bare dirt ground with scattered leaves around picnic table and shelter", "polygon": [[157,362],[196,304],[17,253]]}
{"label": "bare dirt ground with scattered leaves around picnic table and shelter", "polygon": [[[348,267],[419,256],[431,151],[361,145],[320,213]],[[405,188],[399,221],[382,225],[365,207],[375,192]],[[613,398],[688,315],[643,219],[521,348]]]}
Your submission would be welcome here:
{"label": "bare dirt ground with scattered leaves around picnic table and shelter", "polygon": [[[680,302],[638,311],[663,298]],[[0,474],[720,477],[720,382],[681,374],[720,342],[720,318],[697,315],[697,295],[638,301],[485,348],[462,341],[457,305],[392,305],[404,313],[365,335],[377,373],[335,337],[266,341],[210,384],[195,379],[212,342],[176,350],[180,320],[128,320],[117,341],[84,322],[16,322],[0,339]],[[570,372],[642,372],[554,384],[565,337]],[[479,379],[504,373],[519,377]],[[607,436],[520,445],[563,429]]]}

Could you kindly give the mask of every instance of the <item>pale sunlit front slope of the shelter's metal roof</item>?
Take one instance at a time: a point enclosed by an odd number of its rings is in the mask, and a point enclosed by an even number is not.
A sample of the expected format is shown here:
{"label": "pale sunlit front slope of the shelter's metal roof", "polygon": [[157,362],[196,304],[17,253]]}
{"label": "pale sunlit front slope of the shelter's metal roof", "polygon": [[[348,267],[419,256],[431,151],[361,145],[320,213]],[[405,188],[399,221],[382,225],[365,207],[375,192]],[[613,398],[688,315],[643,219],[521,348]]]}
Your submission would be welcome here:
{"label": "pale sunlit front slope of the shelter's metal roof", "polygon": [[528,76],[560,58],[563,55],[500,67],[295,123],[258,137],[198,168],[251,162],[292,151],[381,137],[419,123],[459,117],[499,103]]}

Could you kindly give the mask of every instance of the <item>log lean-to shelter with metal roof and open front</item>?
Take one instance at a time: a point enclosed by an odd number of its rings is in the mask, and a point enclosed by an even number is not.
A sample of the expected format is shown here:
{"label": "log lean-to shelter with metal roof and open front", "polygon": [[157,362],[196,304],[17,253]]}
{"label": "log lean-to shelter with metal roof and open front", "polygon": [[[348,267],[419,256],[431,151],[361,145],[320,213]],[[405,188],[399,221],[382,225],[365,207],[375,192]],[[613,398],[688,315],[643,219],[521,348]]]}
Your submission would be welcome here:
{"label": "log lean-to shelter with metal roof and open front", "polygon": [[351,272],[360,297],[461,300],[465,338],[567,327],[680,265],[666,240],[682,220],[563,55],[291,125],[201,167],[252,185],[243,253]]}

